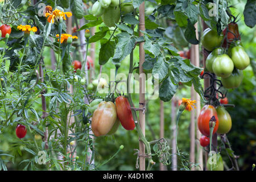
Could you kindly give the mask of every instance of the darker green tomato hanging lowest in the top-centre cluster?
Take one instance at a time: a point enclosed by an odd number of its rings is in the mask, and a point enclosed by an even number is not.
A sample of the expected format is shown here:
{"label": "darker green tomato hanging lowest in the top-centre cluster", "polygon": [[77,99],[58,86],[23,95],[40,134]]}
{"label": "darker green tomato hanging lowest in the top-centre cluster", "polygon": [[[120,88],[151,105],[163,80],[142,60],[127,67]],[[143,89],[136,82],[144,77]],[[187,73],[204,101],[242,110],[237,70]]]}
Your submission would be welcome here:
{"label": "darker green tomato hanging lowest in the top-centre cluster", "polygon": [[120,9],[117,7],[109,7],[105,10],[104,14],[101,16],[102,21],[108,27],[115,27],[115,23],[119,22],[120,19]]}

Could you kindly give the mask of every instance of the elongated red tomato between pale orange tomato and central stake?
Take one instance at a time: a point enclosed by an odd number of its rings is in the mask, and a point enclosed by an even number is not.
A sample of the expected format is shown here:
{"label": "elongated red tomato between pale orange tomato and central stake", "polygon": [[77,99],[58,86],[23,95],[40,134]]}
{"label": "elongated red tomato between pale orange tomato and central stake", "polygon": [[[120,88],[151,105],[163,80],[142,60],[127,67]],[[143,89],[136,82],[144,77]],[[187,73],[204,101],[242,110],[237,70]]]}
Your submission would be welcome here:
{"label": "elongated red tomato between pale orange tomato and central stake", "polygon": [[131,106],[129,101],[124,96],[119,96],[115,99],[115,109],[117,110],[117,117],[121,125],[126,130],[133,130],[135,123],[133,114],[131,113]]}

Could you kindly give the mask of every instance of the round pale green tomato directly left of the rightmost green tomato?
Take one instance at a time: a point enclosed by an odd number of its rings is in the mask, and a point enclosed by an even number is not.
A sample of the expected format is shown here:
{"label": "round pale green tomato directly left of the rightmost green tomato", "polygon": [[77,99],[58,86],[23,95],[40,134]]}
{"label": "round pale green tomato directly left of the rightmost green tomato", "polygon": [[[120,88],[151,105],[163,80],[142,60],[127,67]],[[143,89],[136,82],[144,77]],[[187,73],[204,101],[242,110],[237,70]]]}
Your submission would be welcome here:
{"label": "round pale green tomato directly left of the rightmost green tomato", "polygon": [[220,55],[214,59],[212,64],[213,72],[220,77],[227,78],[232,74],[234,64],[228,55]]}

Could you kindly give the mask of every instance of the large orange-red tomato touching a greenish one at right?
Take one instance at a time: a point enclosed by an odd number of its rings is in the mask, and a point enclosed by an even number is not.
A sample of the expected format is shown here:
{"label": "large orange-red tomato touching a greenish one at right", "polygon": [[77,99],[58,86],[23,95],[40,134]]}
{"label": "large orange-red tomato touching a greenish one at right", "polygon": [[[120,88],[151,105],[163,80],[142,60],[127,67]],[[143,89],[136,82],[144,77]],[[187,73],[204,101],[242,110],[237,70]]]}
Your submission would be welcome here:
{"label": "large orange-red tomato touching a greenish one at right", "polygon": [[201,109],[201,112],[197,119],[197,126],[200,132],[207,137],[209,137],[210,135],[209,122],[210,122],[210,118],[212,118],[213,116],[216,118],[216,123],[213,129],[213,134],[214,134],[218,130],[218,115],[217,115],[216,109],[212,105],[205,105]]}

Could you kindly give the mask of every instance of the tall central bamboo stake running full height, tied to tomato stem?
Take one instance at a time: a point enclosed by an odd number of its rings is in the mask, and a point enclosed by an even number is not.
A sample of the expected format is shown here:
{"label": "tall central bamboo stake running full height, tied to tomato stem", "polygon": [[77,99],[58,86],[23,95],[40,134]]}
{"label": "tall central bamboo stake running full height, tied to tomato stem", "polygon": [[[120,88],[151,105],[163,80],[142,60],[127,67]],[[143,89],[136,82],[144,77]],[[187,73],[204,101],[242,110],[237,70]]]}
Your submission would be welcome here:
{"label": "tall central bamboo stake running full height, tied to tomato stem", "polygon": [[[139,30],[145,31],[145,2],[142,2],[142,4],[139,6]],[[142,32],[139,31],[139,36],[143,36]],[[145,61],[145,52],[144,52],[144,43],[139,43],[139,74],[141,75],[143,73],[142,64]],[[145,106],[145,80],[140,78],[139,79],[139,108],[142,108]],[[145,135],[145,114],[142,113],[142,111],[139,111],[139,124],[141,126],[141,130],[143,135]],[[145,154],[145,146],[143,142],[139,142],[139,154]],[[145,157],[139,156],[139,170],[145,171]]]}

